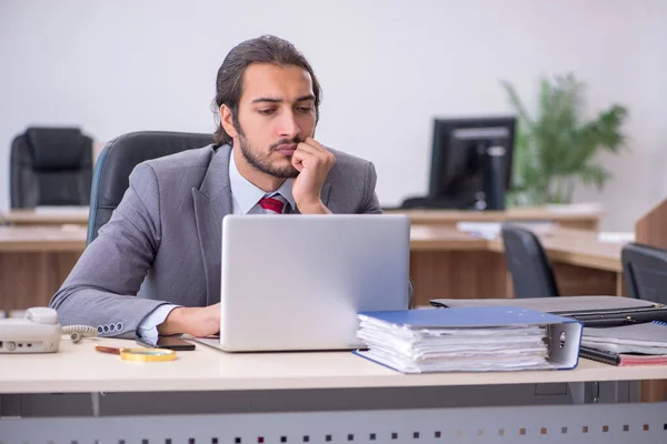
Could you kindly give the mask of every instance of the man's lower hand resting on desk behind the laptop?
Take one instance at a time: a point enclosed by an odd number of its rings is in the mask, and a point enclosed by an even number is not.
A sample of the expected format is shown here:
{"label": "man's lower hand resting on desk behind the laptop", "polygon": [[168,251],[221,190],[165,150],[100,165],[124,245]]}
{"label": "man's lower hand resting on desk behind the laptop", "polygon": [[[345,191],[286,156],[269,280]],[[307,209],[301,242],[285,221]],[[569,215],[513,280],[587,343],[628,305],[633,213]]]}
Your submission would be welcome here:
{"label": "man's lower hand resting on desk behind the laptop", "polygon": [[220,303],[209,306],[179,306],[158,325],[162,336],[187,333],[192,336],[209,336],[220,332]]}

